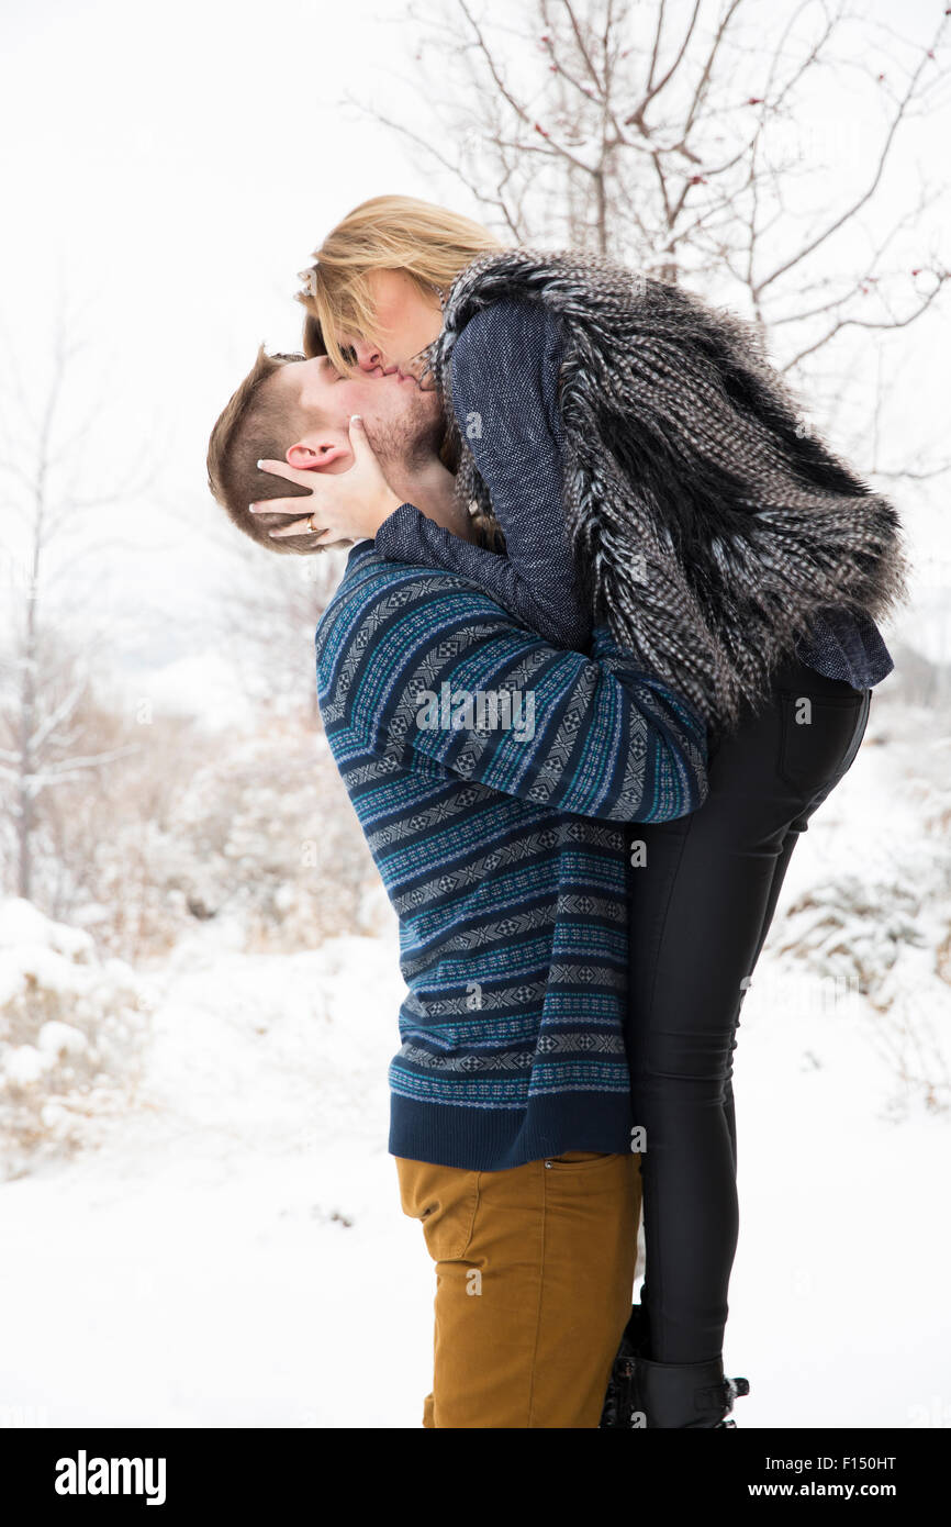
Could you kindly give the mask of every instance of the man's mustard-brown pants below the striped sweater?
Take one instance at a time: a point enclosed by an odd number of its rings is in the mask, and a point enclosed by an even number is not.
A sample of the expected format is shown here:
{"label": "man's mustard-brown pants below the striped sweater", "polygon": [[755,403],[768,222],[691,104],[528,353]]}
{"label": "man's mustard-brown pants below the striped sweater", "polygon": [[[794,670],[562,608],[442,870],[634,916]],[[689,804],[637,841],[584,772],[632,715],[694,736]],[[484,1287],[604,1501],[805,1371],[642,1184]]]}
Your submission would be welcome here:
{"label": "man's mustard-brown pants below the striped sweater", "polygon": [[597,1428],[630,1315],[640,1156],[569,1151],[508,1171],[395,1162],[437,1264],[423,1426]]}

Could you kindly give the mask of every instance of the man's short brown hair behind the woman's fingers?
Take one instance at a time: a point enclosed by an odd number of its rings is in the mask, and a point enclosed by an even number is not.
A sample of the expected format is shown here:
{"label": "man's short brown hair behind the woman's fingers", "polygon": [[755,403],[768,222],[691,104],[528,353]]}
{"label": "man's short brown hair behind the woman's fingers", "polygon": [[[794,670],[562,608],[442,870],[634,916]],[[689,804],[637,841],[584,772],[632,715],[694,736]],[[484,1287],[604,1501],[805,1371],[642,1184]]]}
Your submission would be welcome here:
{"label": "man's short brown hair behind the woman's fingers", "polygon": [[247,507],[267,498],[310,498],[307,489],[270,472],[260,472],[256,466],[260,460],[284,461],[287,449],[307,432],[308,420],[304,412],[292,408],[285,399],[275,394],[273,386],[269,386],[278,371],[304,359],[301,354],[269,356],[264,345],[258,348],[253,366],[223,408],[211,432],[208,486],[218,504],[227,510],[232,524],[258,545],[267,547],[269,551],[313,554],[327,550],[324,545],[314,545],[314,536],[282,536],[273,541],[267,531],[281,521],[263,522]]}

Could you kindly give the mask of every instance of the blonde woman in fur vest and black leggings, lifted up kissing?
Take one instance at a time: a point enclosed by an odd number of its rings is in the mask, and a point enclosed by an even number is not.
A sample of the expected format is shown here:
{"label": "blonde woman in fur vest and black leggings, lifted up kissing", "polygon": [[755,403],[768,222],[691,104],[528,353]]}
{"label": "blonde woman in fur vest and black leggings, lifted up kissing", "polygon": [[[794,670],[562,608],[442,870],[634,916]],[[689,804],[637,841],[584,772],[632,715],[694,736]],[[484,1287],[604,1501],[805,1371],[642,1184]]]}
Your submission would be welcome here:
{"label": "blonde woman in fur vest and black leggings, lifted up kissing", "polygon": [[891,669],[875,618],[904,586],[895,510],[803,434],[748,325],[609,261],[504,249],[467,218],[379,197],[324,241],[301,301],[308,356],[432,377],[485,545],[411,504],[372,522],[356,473],[290,467],[275,470],[311,487],[316,524],[299,499],[270,501],[293,516],[276,534],[374,536],[580,651],[603,618],[707,721],[707,803],[632,828],[647,1266],[621,1353],[647,1426],[730,1426],[739,1008],[798,835]]}

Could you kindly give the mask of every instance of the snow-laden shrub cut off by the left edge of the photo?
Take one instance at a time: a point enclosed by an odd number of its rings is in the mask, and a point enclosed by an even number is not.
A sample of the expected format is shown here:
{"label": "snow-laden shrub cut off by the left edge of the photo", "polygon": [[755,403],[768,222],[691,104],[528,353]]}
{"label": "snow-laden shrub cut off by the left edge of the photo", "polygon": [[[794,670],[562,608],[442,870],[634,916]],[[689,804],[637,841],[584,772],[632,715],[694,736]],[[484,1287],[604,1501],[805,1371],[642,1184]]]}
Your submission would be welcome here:
{"label": "snow-laden shrub cut off by the left edge of the photo", "polygon": [[139,1077],[148,1000],[128,965],[29,901],[0,901],[0,1177],[93,1142]]}

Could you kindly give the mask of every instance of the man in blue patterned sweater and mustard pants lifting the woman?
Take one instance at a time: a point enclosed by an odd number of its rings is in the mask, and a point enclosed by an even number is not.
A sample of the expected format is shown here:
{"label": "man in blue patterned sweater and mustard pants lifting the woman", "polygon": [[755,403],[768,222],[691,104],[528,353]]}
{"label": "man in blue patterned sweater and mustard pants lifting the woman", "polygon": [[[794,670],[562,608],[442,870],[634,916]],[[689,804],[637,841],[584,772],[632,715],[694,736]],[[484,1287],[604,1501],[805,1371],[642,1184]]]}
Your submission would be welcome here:
{"label": "man in blue patterned sweater and mustard pants lifting the woman", "polygon": [[597,1428],[640,1215],[624,823],[701,805],[705,739],[604,631],[591,657],[565,652],[476,585],[386,560],[401,505],[473,538],[440,438],[415,379],[260,351],[212,432],[209,481],[276,550],[340,538],[253,515],[250,499],[287,495],[260,458],[299,487],[362,472],[380,495],[380,531],[351,547],[318,628],[318,690],[400,919],[389,1151],[437,1263],[423,1425]]}

